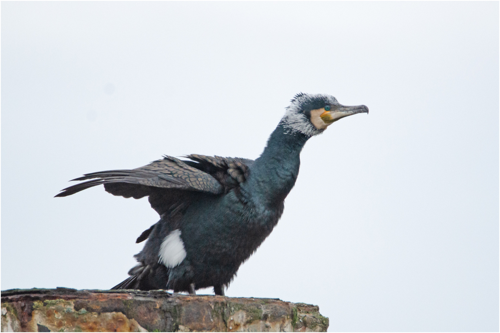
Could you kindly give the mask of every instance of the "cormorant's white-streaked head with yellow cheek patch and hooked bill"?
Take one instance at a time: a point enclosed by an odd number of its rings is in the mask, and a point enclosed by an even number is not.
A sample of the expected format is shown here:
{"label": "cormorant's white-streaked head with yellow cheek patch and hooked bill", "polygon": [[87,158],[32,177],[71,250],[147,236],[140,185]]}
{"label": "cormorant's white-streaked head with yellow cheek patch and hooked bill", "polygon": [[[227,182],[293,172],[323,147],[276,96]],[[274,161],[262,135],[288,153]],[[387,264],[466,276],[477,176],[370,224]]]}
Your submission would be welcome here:
{"label": "cormorant's white-streaked head with yellow cheek patch and hooked bill", "polygon": [[338,119],[361,112],[368,113],[368,108],[342,105],[331,95],[301,92],[293,97],[281,121],[287,131],[313,136]]}

